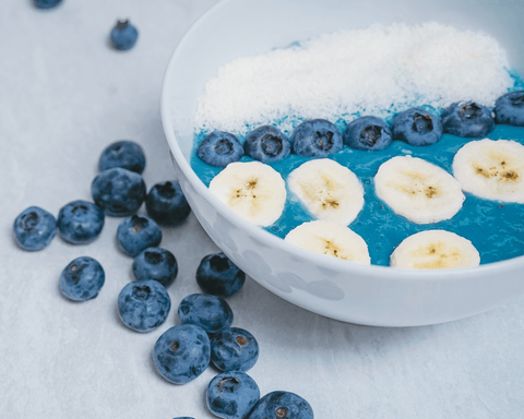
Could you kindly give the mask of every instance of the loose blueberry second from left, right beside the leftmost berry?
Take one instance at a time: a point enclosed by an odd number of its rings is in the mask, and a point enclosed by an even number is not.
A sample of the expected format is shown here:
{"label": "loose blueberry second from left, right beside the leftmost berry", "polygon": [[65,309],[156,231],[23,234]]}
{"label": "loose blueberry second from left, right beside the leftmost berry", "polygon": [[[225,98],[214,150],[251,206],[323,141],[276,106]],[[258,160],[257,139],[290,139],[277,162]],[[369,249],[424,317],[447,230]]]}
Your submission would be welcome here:
{"label": "loose blueberry second from left, right beside the leftmost berry", "polygon": [[58,213],[60,237],[71,244],[91,243],[100,234],[104,218],[104,211],[92,202],[70,202]]}

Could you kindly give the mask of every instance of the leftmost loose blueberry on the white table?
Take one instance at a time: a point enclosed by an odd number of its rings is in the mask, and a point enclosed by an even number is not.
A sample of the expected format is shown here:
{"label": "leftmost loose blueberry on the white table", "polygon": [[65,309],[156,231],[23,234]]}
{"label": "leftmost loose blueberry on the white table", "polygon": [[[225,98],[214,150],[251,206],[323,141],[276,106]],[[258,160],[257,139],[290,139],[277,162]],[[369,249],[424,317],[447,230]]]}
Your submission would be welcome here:
{"label": "leftmost loose blueberry on the white table", "polygon": [[57,236],[57,220],[38,206],[25,208],[13,224],[14,241],[29,252],[41,250]]}

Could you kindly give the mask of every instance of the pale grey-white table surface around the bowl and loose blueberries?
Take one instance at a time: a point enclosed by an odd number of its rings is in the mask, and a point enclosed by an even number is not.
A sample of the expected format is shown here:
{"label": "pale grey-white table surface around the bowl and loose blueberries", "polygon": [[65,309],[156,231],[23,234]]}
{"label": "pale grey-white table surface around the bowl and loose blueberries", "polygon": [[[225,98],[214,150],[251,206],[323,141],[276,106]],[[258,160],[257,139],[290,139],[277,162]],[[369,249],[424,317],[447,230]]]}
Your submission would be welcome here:
{"label": "pale grey-white table surface around the bowl and loose blueberries", "polygon": [[[200,260],[218,251],[193,215],[164,229],[179,262],[171,313],[138,334],[120,322],[117,296],[132,278],[115,244],[120,219],[106,218],[88,246],[56,238],[40,252],[15,247],[12,224],[29,205],[58,215],[91,200],[102,149],[119,139],[143,145],[145,182],[172,179],[160,123],[169,56],[215,0],[64,0],[51,11],[29,0],[0,2],[0,418],[213,418],[204,390],[210,368],[177,386],[160,378],[151,351],[177,323],[180,300],[199,288]],[[115,21],[140,31],[136,47],[107,45]],[[198,51],[195,51],[198,53]],[[99,296],[73,303],[58,290],[62,268],[91,255],[106,272]],[[373,328],[309,313],[253,280],[229,299],[235,326],[258,338],[250,375],[261,394],[295,392],[317,418],[524,418],[524,298],[448,324]]]}

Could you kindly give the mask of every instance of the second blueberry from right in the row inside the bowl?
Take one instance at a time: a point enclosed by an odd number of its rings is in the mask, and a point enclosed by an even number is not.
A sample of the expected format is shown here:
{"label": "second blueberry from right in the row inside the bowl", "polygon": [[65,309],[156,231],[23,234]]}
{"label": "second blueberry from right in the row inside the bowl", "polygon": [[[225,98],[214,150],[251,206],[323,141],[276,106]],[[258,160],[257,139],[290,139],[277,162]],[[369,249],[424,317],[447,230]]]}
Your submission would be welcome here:
{"label": "second blueberry from right in the row inside the bowl", "polygon": [[491,108],[474,101],[452,104],[440,116],[444,132],[463,137],[485,136],[495,130]]}

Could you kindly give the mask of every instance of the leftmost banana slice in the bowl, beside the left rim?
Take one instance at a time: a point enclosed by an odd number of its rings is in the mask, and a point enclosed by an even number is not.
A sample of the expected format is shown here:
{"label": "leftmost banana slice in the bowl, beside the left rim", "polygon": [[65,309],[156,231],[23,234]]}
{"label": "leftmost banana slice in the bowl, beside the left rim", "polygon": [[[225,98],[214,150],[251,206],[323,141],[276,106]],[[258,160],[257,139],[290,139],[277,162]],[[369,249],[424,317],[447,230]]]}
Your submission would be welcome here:
{"label": "leftmost banana slice in the bowl, beside the left rim", "polygon": [[262,227],[275,223],[286,202],[286,183],[260,161],[230,163],[210,183],[210,191],[235,213]]}

